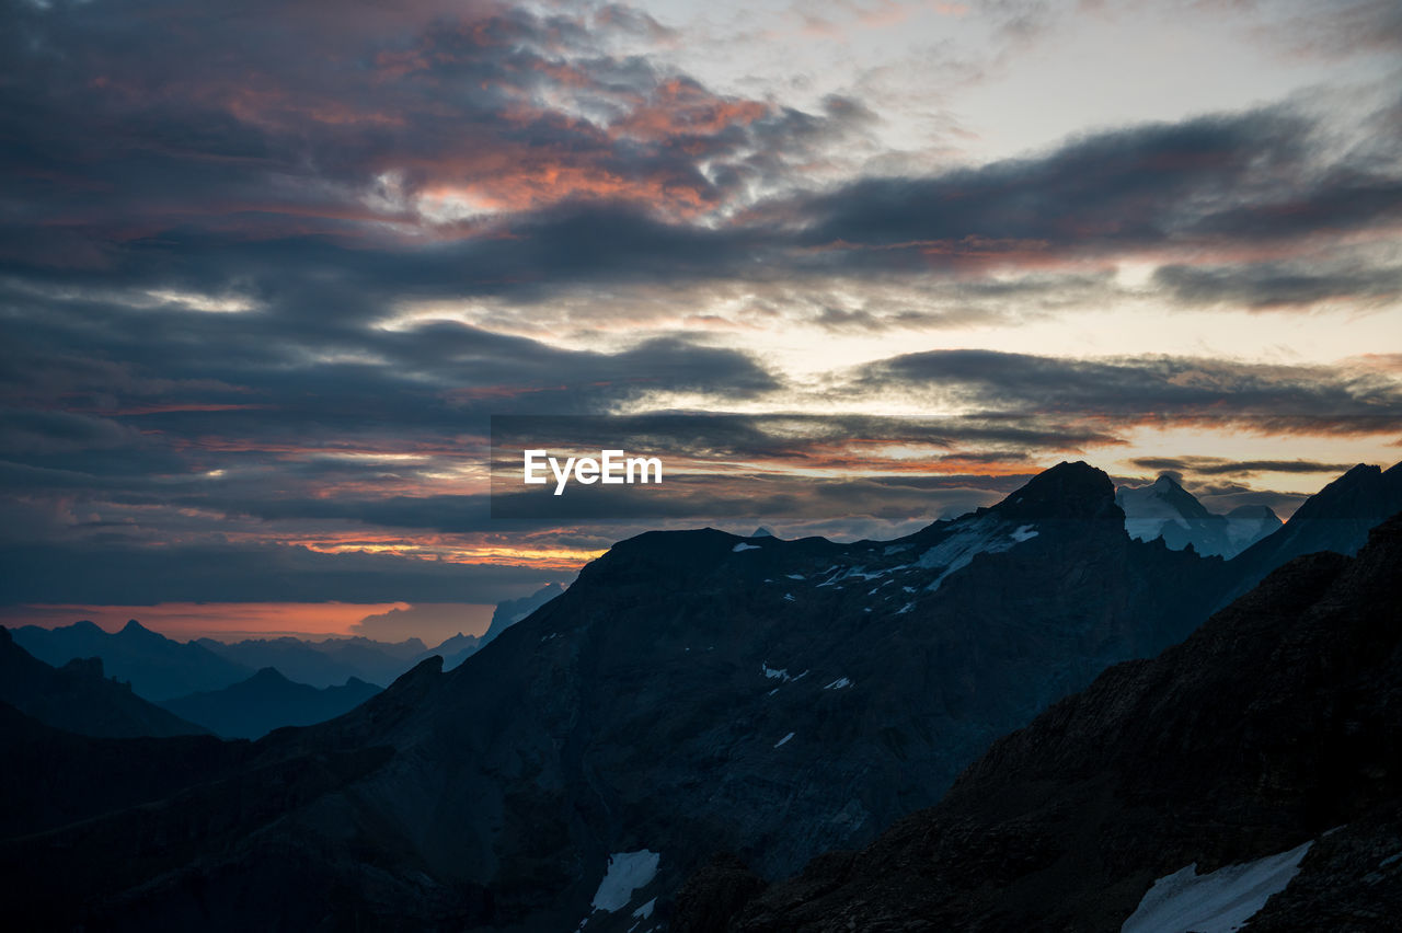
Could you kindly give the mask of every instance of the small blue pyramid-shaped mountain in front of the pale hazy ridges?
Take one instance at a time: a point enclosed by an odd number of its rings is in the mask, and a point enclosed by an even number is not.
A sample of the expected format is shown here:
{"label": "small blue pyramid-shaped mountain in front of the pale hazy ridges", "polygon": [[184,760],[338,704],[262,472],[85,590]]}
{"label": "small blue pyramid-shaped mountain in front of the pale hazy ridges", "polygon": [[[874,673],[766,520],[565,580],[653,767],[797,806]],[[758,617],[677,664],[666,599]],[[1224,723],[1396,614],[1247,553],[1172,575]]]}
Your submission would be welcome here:
{"label": "small blue pyramid-shaped mountain in front of the pale hazy ridges", "polygon": [[261,738],[283,726],[311,726],[334,719],[379,692],[379,686],[353,677],[342,686],[317,689],[265,667],[247,681],[164,700],[161,706],[224,738]]}

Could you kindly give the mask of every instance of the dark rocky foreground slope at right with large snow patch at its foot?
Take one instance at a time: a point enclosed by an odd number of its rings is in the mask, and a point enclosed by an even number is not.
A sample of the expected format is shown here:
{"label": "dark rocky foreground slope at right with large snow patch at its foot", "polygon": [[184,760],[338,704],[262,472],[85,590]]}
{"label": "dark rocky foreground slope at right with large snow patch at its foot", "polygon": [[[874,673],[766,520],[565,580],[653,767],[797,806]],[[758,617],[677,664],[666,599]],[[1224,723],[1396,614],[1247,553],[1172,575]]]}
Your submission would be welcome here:
{"label": "dark rocky foreground slope at right with large snow patch at its foot", "polygon": [[1394,930],[1399,605],[1402,516],[1108,670],[861,852],[767,890],[718,860],[670,929]]}

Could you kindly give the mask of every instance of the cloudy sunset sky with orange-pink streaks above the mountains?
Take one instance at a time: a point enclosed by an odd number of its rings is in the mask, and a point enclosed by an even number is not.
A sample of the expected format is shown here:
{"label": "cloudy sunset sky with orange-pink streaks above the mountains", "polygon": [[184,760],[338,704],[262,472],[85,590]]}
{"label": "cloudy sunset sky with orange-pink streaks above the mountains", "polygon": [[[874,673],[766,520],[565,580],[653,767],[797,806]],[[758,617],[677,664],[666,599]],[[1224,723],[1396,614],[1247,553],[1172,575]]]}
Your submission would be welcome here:
{"label": "cloudy sunset sky with orange-pink streaks above the mountains", "polygon": [[[0,167],[7,625],[472,633],[648,527],[1402,459],[1395,1],[3,0]],[[491,416],[677,413],[709,521],[491,517]]]}

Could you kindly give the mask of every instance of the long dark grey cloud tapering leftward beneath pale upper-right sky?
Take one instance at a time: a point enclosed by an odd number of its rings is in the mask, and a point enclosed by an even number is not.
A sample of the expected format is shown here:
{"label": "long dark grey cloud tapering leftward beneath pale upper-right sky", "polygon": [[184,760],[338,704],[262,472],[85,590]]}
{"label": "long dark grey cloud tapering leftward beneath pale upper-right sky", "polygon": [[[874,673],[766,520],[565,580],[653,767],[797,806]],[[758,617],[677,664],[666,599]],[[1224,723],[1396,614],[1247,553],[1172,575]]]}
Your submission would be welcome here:
{"label": "long dark grey cloud tapering leftward beneath pale upper-right sky", "polygon": [[1314,125],[1267,108],[1095,133],[931,178],[859,181],[757,214],[848,262],[886,254],[911,266],[1274,244],[1396,221],[1395,174],[1316,158]]}

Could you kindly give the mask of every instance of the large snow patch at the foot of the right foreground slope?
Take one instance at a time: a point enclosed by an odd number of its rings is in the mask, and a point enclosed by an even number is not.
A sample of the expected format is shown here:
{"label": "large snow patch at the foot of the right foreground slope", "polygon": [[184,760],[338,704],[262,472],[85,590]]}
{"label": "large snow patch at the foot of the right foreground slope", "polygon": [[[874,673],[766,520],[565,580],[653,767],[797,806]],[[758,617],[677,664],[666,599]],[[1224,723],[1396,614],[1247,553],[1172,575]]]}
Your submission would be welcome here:
{"label": "large snow patch at the foot of the right foreground slope", "polygon": [[1120,933],[1231,933],[1284,891],[1314,842],[1197,874],[1197,863],[1154,883]]}

